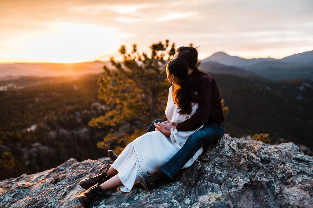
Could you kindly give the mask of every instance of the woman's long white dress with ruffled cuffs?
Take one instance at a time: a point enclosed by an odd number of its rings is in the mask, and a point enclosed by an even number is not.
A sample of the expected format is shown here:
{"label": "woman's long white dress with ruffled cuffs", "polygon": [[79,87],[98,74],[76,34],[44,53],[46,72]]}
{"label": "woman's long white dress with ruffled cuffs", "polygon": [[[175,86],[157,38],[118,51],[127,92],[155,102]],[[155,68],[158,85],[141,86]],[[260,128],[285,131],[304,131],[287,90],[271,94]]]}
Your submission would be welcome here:
{"label": "woman's long white dress with ruffled cuffs", "polygon": [[[193,104],[191,114],[178,113],[180,109],[172,99],[172,86],[170,87],[165,109],[165,115],[170,123],[182,123],[195,114],[197,109],[198,103]],[[179,132],[171,129],[170,137],[166,137],[160,131],[148,132],[129,143],[112,164],[124,185],[120,186],[121,191],[130,192],[138,176],[160,170],[182,148],[190,134],[202,127],[203,125],[194,131]],[[183,168],[191,166],[202,151],[201,147]]]}

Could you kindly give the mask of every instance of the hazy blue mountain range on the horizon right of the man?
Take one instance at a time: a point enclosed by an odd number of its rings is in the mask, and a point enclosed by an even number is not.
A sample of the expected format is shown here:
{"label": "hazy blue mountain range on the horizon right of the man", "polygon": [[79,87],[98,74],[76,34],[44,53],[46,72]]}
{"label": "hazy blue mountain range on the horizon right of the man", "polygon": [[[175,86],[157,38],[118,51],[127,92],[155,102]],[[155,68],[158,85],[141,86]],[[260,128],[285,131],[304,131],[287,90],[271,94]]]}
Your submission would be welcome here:
{"label": "hazy blue mountain range on the horizon right of the man", "polygon": [[[223,66],[214,66],[213,63],[219,63]],[[260,76],[272,81],[297,78],[313,80],[313,51],[282,59],[270,57],[245,59],[239,56],[230,56],[224,52],[217,52],[202,60],[200,67],[203,67],[207,73],[233,74],[241,77]]]}

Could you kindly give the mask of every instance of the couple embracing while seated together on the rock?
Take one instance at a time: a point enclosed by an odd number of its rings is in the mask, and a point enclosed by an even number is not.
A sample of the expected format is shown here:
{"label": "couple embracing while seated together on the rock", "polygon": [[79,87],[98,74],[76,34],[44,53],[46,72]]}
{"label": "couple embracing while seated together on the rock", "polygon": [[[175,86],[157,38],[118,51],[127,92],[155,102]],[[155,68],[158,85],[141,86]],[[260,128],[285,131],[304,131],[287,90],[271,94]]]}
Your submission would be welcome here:
{"label": "couple embracing while seated together on the rock", "polygon": [[[225,129],[221,98],[212,77],[197,67],[198,51],[179,47],[168,62],[169,89],[165,118],[151,124],[147,132],[127,145],[111,167],[98,176],[80,181],[87,189],[77,198],[84,207],[102,191],[120,187],[131,191],[134,183],[149,190],[166,175],[192,165],[203,144],[215,143]],[[115,159],[115,158],[114,158]]]}

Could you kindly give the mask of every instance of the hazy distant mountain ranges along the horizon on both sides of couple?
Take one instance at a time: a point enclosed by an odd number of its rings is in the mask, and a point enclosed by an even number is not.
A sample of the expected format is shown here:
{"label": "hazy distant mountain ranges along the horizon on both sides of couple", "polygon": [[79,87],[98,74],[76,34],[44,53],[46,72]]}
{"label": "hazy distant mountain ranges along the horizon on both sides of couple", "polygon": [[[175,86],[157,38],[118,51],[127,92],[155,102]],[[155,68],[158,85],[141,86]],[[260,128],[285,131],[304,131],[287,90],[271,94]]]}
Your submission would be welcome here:
{"label": "hazy distant mountain ranges along the horizon on both sides of couple", "polygon": [[[239,77],[252,77],[264,80],[282,81],[291,79],[313,80],[313,51],[307,51],[282,59],[253,58],[245,59],[230,56],[224,52],[214,53],[200,60],[200,69],[213,74],[230,74]],[[34,63],[34,64],[2,64],[0,78],[8,76],[67,76],[99,74],[103,65],[112,67],[110,62],[84,63]]]}

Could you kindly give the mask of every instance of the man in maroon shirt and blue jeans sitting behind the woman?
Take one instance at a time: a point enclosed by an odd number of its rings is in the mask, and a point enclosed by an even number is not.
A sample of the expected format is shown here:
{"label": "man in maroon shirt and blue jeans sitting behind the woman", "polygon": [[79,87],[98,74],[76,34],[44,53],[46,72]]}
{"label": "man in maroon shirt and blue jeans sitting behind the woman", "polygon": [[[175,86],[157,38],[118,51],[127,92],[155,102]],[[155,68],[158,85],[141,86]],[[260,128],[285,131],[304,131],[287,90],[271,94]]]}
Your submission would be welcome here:
{"label": "man in maroon shirt and blue jeans sitting behind the woman", "polygon": [[[215,80],[212,77],[197,67],[198,50],[193,47],[179,47],[174,55],[175,58],[183,58],[188,63],[188,75],[198,82],[198,95],[201,98],[199,108],[190,119],[173,125],[166,122],[165,117],[163,121],[156,120],[148,128],[147,132],[157,130],[165,135],[170,134],[170,130],[177,129],[177,131],[191,131],[204,125],[195,133],[189,136],[185,145],[162,167],[158,172],[151,175],[141,175],[138,177],[141,185],[150,190],[158,185],[161,177],[166,175],[173,179],[179,170],[193,157],[193,155],[203,145],[208,145],[217,142],[225,133],[223,121],[223,108],[221,104],[221,97],[218,93],[218,88]],[[162,122],[162,123],[161,123]],[[111,159],[115,160],[116,156],[113,151],[108,151]]]}

